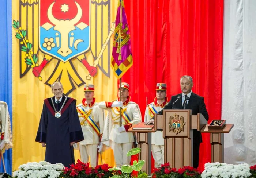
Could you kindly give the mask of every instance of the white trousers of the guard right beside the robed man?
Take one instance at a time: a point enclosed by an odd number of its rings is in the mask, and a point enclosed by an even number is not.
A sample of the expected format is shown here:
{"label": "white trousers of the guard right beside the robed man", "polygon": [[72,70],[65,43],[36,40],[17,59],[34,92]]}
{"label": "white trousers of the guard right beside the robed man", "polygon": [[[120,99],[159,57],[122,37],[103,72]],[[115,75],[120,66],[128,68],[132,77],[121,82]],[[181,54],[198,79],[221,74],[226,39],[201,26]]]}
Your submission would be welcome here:
{"label": "white trousers of the guard right beside the robed man", "polygon": [[91,167],[97,166],[98,144],[81,145],[79,144],[81,161],[87,163],[90,156]]}

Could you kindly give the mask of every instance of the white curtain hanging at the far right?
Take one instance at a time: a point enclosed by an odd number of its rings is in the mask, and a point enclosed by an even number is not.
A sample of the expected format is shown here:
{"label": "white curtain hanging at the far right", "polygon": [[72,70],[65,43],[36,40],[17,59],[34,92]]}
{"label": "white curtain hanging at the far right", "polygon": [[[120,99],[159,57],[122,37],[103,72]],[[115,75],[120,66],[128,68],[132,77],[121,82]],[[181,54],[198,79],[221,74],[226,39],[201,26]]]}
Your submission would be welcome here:
{"label": "white curtain hanging at the far right", "polygon": [[225,134],[225,162],[256,164],[256,1],[225,0],[222,118],[234,124]]}

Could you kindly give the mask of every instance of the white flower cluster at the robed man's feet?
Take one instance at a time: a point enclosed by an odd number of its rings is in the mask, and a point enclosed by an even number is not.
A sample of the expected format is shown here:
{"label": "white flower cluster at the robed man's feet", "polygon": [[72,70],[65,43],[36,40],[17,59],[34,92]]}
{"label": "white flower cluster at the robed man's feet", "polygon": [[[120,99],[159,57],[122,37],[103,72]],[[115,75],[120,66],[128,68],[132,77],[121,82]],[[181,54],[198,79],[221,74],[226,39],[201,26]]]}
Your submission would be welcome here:
{"label": "white flower cluster at the robed man's feet", "polygon": [[19,166],[18,171],[14,171],[14,178],[58,178],[64,169],[61,163],[50,164],[46,161],[39,163],[32,162]]}

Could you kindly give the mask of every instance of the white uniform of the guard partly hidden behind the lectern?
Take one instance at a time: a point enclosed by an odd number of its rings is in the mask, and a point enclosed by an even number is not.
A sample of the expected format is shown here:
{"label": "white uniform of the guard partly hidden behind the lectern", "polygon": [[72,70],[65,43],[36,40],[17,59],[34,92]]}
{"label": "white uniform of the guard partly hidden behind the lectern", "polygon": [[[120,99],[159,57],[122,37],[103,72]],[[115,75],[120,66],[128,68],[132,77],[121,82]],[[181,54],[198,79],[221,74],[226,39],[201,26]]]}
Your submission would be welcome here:
{"label": "white uniform of the guard partly hidden behind the lectern", "polygon": [[[155,113],[161,111],[168,104],[167,101],[168,98],[165,97],[165,101],[159,105],[157,103],[157,98],[155,98],[154,102],[151,102],[149,105],[147,105],[144,122],[149,121],[155,115]],[[155,167],[161,167],[161,164],[164,163],[165,155],[163,131],[156,131],[155,133],[152,133],[151,143],[152,155],[155,160]]]}

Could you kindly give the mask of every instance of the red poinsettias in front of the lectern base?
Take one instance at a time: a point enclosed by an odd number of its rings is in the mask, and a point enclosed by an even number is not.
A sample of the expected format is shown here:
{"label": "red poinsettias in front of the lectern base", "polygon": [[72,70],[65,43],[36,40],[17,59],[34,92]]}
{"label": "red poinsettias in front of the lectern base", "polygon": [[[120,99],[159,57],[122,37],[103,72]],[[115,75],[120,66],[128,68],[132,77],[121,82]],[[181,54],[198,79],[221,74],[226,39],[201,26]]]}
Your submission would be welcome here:
{"label": "red poinsettias in front of the lectern base", "polygon": [[169,163],[162,164],[153,173],[156,178],[200,178],[201,172],[193,167],[184,166],[180,169],[171,168]]}

